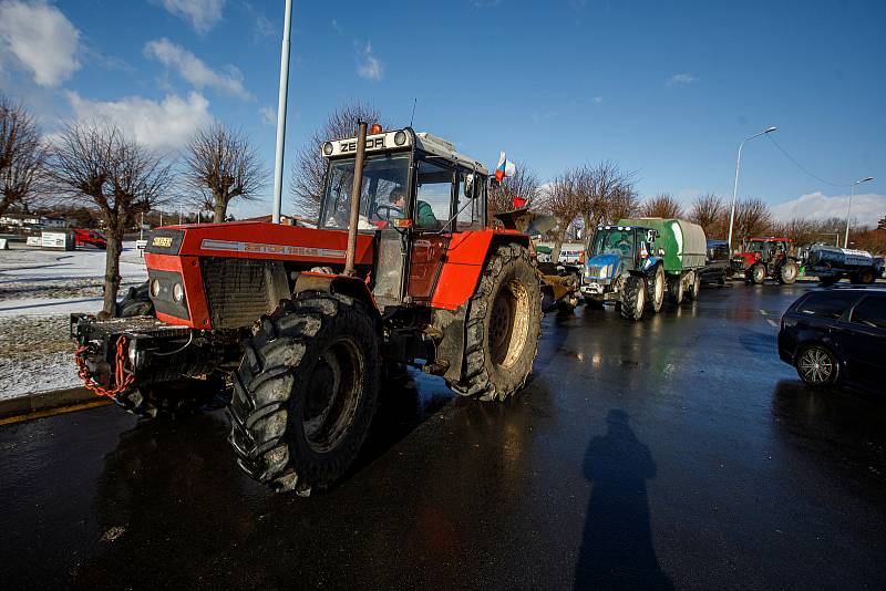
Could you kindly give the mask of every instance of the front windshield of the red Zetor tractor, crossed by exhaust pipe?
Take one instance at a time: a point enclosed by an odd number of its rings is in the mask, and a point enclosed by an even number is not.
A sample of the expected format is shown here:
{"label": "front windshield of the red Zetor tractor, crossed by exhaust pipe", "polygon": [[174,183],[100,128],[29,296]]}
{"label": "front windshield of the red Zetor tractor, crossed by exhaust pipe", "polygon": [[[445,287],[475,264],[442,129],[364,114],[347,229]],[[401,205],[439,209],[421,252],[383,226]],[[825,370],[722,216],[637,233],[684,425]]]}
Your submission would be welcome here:
{"label": "front windshield of the red Zetor tractor, crossed by exhaust pipe", "polygon": [[[403,217],[409,179],[409,154],[373,154],[363,165],[359,229],[374,230],[392,218]],[[329,164],[320,224],[326,228],[348,228],[353,188],[354,159]]]}

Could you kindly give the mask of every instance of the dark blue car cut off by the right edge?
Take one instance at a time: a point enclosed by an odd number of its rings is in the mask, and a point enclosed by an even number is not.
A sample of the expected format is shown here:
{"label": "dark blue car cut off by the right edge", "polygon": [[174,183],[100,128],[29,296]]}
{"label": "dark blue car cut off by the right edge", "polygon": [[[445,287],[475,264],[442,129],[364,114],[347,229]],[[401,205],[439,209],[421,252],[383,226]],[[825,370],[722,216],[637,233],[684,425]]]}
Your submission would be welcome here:
{"label": "dark blue car cut off by the right edge", "polygon": [[782,317],[779,355],[811,386],[852,383],[886,392],[886,290],[803,294]]}

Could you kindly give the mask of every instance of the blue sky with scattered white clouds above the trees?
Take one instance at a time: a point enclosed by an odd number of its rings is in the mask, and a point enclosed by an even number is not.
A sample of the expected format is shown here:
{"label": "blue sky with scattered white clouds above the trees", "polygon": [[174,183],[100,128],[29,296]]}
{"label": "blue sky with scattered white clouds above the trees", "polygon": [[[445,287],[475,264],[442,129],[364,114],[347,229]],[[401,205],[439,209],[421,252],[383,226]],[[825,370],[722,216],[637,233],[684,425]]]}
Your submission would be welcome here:
{"label": "blue sky with scattered white clouds above the trees", "polygon": [[[0,90],[48,131],[110,116],[168,152],[195,126],[243,127],[272,168],[282,0],[0,0]],[[343,102],[501,149],[543,179],[614,159],[647,196],[731,195],[739,142],[769,125],[815,175],[866,176],[886,214],[886,2],[307,2],[296,0],[287,164]],[[289,170],[286,177],[288,179]],[[269,211],[264,203],[238,216]],[[848,190],[749,143],[741,196],[781,217],[845,215]],[[288,200],[288,199],[285,199]],[[285,203],[285,210],[291,209]]]}

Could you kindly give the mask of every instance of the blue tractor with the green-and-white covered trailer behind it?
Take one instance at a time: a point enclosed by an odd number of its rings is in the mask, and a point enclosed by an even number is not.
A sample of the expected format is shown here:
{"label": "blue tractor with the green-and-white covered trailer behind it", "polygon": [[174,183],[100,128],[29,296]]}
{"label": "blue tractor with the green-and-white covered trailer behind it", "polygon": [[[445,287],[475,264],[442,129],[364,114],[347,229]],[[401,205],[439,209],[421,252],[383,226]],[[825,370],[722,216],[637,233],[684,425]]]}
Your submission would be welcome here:
{"label": "blue tractor with the green-and-white covered trailer behind it", "polygon": [[581,293],[589,308],[615,302],[622,317],[640,320],[661,311],[664,293],[679,305],[697,300],[707,261],[704,230],[680,219],[621,219],[598,226]]}

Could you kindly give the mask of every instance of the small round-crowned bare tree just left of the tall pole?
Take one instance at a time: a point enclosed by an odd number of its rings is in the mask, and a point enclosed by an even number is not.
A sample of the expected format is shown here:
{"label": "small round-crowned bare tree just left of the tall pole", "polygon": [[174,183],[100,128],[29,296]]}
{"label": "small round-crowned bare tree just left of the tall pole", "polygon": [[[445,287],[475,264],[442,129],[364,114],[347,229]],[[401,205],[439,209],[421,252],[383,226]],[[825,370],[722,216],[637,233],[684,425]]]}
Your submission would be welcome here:
{"label": "small round-crowned bare tree just left of the tall pole", "polygon": [[196,132],[188,142],[184,185],[195,205],[213,211],[216,224],[225,221],[234,199],[257,199],[266,175],[241,131],[215,123]]}

